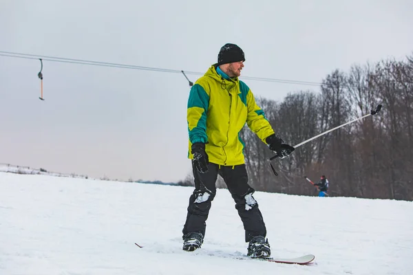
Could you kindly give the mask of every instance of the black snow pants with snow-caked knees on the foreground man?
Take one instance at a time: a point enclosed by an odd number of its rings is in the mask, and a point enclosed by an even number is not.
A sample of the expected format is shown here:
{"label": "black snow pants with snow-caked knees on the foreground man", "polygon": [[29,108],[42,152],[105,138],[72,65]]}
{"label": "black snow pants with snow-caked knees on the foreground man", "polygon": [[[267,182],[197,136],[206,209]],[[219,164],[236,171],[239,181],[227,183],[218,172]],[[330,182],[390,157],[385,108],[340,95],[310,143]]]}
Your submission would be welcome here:
{"label": "black snow pants with snow-caked knees on the foreground man", "polygon": [[248,185],[245,164],[235,166],[219,166],[209,163],[207,173],[199,173],[192,166],[195,178],[195,190],[189,197],[187,221],[182,230],[183,236],[190,232],[200,232],[205,236],[211,201],[215,197],[215,181],[220,175],[235,201],[235,208],[244,223],[245,241],[253,236],[266,236],[266,227],[258,203],[253,198],[255,190]]}

